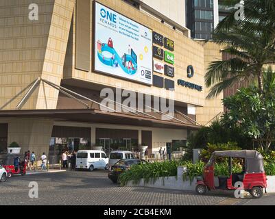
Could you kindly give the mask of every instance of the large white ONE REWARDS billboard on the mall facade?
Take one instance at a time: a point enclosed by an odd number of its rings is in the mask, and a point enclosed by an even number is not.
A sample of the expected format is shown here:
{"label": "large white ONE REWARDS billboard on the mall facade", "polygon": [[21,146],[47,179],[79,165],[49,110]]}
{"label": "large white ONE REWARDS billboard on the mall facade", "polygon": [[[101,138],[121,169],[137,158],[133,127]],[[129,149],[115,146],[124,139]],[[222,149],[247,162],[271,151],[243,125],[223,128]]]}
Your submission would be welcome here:
{"label": "large white ONE REWARDS billboard on the mall facade", "polygon": [[94,70],[152,85],[152,29],[95,3]]}

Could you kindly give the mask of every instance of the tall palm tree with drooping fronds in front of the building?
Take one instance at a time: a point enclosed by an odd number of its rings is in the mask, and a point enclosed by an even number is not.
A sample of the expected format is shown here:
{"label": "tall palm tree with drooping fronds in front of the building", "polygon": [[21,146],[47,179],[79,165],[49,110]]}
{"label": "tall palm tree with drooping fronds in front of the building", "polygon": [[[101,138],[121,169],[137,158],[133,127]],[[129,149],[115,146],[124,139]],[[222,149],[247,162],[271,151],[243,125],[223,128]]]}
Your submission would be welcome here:
{"label": "tall palm tree with drooping fronds in front of the building", "polygon": [[236,11],[232,10],[213,33],[213,41],[224,45],[230,58],[209,66],[205,75],[206,87],[211,87],[208,98],[241,79],[256,79],[259,93],[263,93],[263,66],[275,63],[275,1],[245,0],[242,21],[235,19]]}

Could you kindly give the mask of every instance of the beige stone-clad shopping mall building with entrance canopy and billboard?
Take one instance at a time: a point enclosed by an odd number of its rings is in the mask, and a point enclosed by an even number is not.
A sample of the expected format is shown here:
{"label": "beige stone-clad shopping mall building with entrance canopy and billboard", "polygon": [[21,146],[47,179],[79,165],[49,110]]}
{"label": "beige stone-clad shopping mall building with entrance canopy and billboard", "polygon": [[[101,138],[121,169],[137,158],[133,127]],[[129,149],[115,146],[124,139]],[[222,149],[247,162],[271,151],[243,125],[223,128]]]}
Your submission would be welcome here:
{"label": "beige stone-clad shopping mall building with entrance canopy and billboard", "polygon": [[190,38],[184,7],[1,0],[0,151],[12,142],[37,155],[186,145],[223,106],[222,94],[208,100],[204,86],[208,64],[222,53]]}

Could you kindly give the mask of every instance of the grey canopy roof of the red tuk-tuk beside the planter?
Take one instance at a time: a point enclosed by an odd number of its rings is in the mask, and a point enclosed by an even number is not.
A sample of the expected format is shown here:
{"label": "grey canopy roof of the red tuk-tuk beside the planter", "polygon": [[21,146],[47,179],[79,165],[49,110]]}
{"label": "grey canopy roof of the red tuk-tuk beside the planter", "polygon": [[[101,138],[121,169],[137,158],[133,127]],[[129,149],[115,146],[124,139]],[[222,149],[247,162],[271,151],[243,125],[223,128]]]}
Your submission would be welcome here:
{"label": "grey canopy roof of the red tuk-tuk beside the planter", "polygon": [[244,158],[246,159],[246,172],[265,172],[263,156],[258,151],[214,151],[212,155],[217,157]]}

